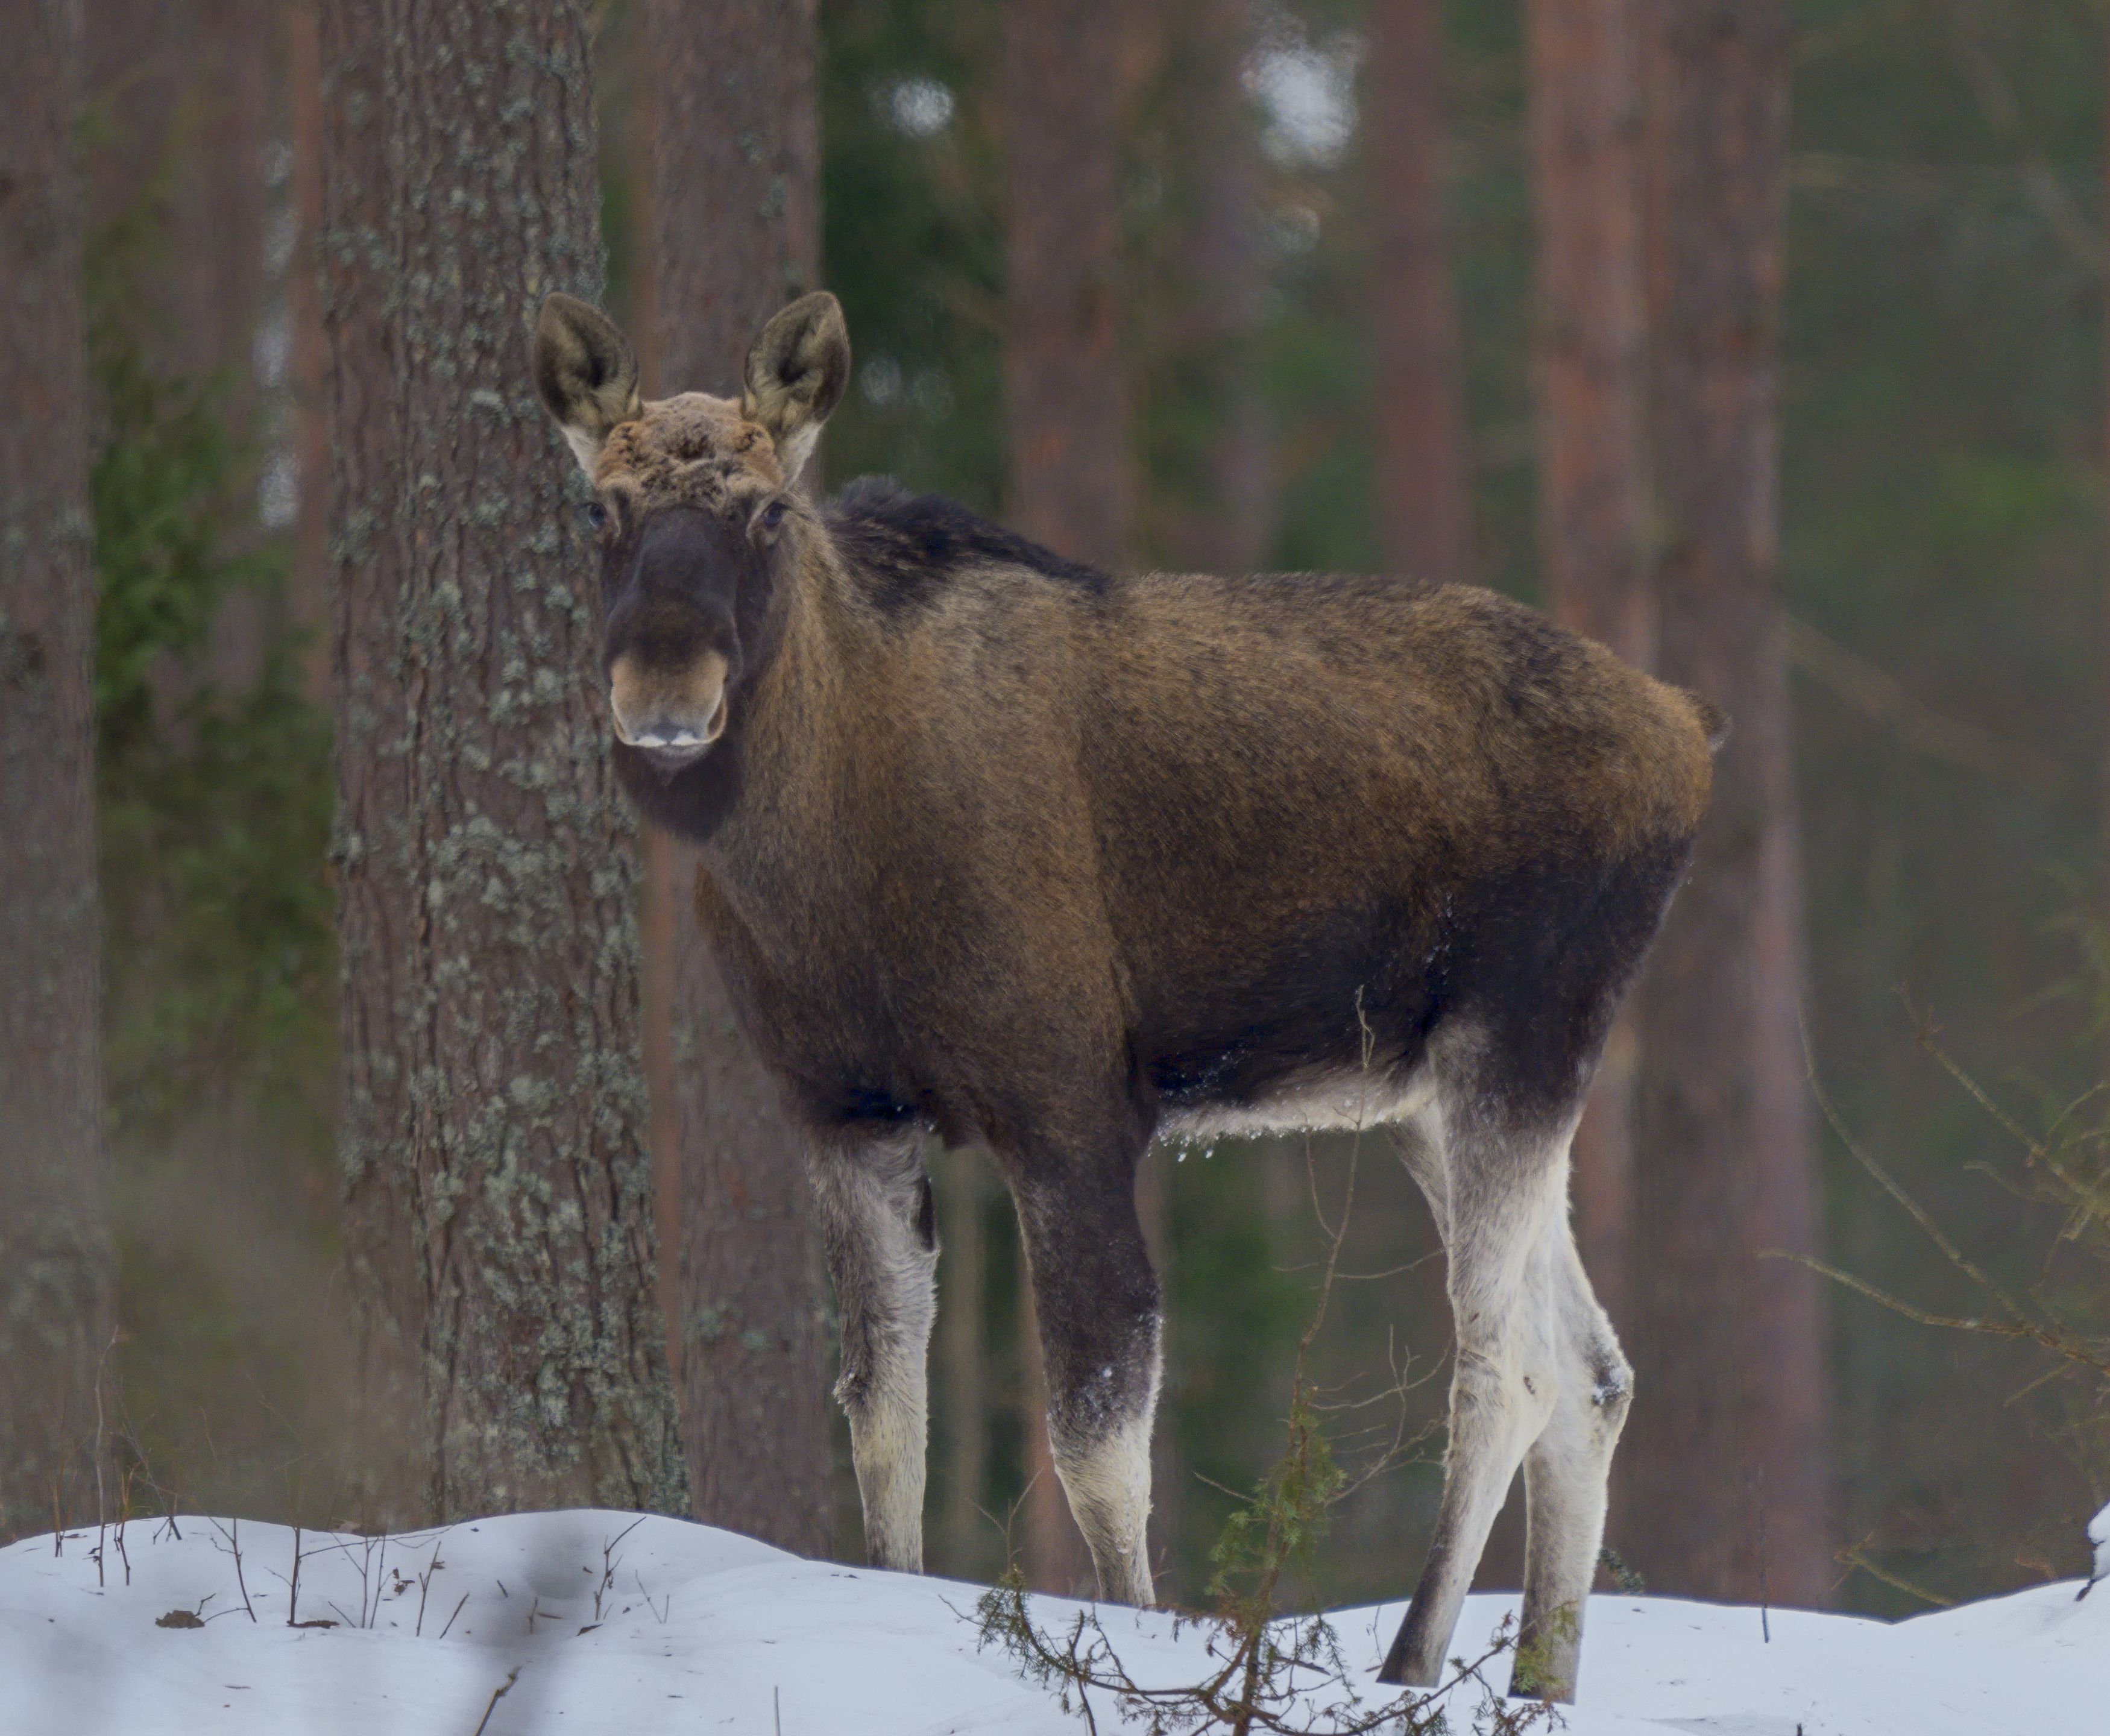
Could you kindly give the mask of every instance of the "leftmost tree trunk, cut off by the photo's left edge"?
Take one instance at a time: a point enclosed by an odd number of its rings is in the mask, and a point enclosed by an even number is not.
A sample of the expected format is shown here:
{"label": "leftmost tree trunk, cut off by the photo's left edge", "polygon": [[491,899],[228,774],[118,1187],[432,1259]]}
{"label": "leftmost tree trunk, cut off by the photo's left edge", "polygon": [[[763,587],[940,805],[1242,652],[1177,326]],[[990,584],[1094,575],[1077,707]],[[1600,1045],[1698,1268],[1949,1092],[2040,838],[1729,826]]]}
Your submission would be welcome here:
{"label": "leftmost tree trunk, cut off by the photo's left edge", "polygon": [[0,1542],[97,1517],[103,1219],[80,8],[0,55]]}

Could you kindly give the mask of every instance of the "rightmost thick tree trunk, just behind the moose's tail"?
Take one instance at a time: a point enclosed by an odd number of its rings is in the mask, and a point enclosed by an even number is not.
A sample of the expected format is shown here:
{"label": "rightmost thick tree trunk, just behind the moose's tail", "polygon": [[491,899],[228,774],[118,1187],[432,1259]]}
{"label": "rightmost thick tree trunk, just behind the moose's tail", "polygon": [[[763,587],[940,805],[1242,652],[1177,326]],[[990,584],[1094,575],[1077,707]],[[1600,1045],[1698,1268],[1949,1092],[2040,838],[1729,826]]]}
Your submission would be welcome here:
{"label": "rightmost thick tree trunk, just behind the moose's tail", "polygon": [[1650,1588],[1817,1603],[1825,1323],[1798,1044],[1802,909],[1777,586],[1789,23],[1648,0],[1644,76],[1658,662],[1732,717],[1692,880],[1642,981],[1637,1403],[1623,1531]]}

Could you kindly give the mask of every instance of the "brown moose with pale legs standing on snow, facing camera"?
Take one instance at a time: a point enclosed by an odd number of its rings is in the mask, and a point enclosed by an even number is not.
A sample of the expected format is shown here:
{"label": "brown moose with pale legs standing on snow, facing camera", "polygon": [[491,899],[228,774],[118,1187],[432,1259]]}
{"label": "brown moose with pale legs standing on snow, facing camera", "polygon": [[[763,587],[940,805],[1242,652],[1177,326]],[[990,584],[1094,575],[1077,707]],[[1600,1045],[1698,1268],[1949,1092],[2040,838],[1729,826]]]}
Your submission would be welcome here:
{"label": "brown moose with pale legs standing on snow, facing camera", "polygon": [[1160,1131],[1382,1120],[1458,1333],[1384,1679],[1437,1681],[1521,1462],[1517,1690],[1568,1696],[1631,1388],[1568,1143],[1707,804],[1711,707],[1488,591],[1104,574],[890,483],[817,506],[829,295],[768,323],[736,399],[639,401],[565,295],[534,373],[595,487],[622,785],[701,848],[804,1129],[871,1559],[922,1565],[926,1129],[1002,1166],[1055,1466],[1101,1597],[1150,1603],[1137,1162]]}

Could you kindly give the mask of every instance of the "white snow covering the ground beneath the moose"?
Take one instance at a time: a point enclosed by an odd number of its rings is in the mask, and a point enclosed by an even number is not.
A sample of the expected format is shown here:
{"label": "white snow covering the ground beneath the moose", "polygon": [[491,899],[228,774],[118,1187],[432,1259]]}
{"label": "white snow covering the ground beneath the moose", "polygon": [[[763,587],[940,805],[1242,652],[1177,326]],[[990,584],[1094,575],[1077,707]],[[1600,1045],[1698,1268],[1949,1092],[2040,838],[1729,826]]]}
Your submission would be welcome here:
{"label": "white snow covering the ground beneath the moose", "polygon": [[[998,1650],[979,1586],[800,1561],[730,1531],[625,1512],[532,1512],[441,1534],[300,1536],[283,1525],[133,1521],[0,1550],[4,1736],[487,1736],[1078,1732]],[[2089,1527],[2102,1546],[2110,1512]],[[241,1574],[236,1550],[241,1546]],[[127,1582],[127,1557],[131,1563]],[[247,1586],[247,1609],[243,1599]],[[595,1603],[599,1599],[599,1605]],[[1076,1605],[1036,1599],[1066,1631]],[[1454,1652],[1515,1599],[1469,1601]],[[186,1612],[203,1626],[158,1626]],[[253,1612],[253,1620],[251,1614]],[[422,1612],[422,1631],[420,1631]],[[1403,1607],[1340,1612],[1374,1671]],[[1205,1635],[1106,1609],[1123,1662],[1194,1681]],[[2059,1736],[2110,1730],[2110,1597],[2049,1584],[1884,1624],[1599,1595],[1572,1736]],[[1507,1660],[1492,1669],[1507,1681]],[[498,1702],[492,1696],[513,1685]],[[1452,1728],[1473,1725],[1460,1690]],[[1101,1706],[1101,1730],[1118,1730]]]}

